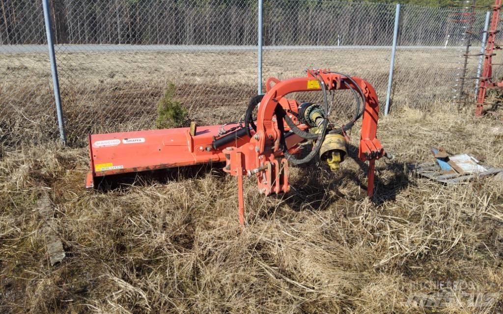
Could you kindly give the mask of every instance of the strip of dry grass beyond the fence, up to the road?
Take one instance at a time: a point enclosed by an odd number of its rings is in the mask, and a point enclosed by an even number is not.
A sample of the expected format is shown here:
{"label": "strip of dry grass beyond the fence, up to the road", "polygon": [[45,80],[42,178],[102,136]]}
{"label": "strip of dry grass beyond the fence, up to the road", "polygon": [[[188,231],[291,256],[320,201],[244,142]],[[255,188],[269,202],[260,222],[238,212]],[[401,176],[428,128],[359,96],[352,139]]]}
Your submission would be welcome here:
{"label": "strip of dry grass beyond the fence, up to the road", "polygon": [[[264,79],[305,75],[306,67],[331,68],[367,79],[384,102],[389,53],[388,49],[266,50]],[[435,101],[449,102],[458,72],[457,54],[449,49],[399,49],[392,108],[429,110]],[[239,119],[256,93],[255,52],[61,51],[57,57],[66,130],[72,145],[87,145],[88,133],[154,127],[155,104],[169,81],[177,85],[177,96],[199,124]],[[472,63],[469,68],[474,70]],[[0,142],[13,147],[20,142],[57,139],[51,95],[47,54],[2,55]],[[214,108],[221,110],[215,112]]]}

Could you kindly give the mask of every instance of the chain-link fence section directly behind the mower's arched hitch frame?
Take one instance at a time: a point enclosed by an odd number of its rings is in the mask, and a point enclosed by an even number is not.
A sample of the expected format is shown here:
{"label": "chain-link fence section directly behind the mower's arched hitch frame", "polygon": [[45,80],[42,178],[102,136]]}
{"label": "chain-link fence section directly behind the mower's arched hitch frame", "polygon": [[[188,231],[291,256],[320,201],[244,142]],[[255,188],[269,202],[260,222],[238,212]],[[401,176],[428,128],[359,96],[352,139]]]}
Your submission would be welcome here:
{"label": "chain-link fence section directly behind the mower's arched hitch frame", "polygon": [[[305,75],[305,68],[329,68],[369,81],[381,104],[386,98],[395,5],[332,1],[274,1],[264,7],[264,77]],[[321,101],[321,92],[297,93]],[[351,91],[334,93],[330,120],[354,116]],[[384,106],[381,106],[384,108]]]}

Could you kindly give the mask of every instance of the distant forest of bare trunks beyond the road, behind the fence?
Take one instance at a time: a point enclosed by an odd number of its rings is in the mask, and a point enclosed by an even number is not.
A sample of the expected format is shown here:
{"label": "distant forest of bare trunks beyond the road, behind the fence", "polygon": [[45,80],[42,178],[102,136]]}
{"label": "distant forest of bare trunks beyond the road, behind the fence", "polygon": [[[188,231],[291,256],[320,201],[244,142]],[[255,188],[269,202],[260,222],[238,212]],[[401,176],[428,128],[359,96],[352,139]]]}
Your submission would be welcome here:
{"label": "distant forest of bare trunks beyond the road, behind the fence", "polygon": [[[447,1],[399,2],[399,44],[460,40],[466,23]],[[264,0],[264,44],[390,45],[394,3]],[[0,45],[45,43],[40,0],[0,0],[0,10]],[[57,44],[257,44],[255,0],[52,0],[50,11]]]}

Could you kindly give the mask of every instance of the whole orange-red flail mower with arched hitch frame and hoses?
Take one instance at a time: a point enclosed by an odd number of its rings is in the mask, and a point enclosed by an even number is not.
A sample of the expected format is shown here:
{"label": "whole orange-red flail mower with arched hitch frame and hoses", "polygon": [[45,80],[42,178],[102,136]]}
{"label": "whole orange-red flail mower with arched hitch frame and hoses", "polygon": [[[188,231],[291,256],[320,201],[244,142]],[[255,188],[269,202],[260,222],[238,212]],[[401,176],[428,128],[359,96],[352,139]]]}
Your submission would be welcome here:
{"label": "whole orange-red flail mower with arched hitch frame and hoses", "polygon": [[[338,127],[328,120],[327,93],[340,89],[352,91],[357,110],[350,122]],[[320,90],[322,104],[286,97]],[[288,192],[289,162],[302,164],[319,156],[335,171],[346,156],[346,132],[363,116],[358,157],[369,161],[367,195],[372,196],[375,160],[386,155],[376,138],[378,113],[374,88],[359,77],[321,69],[286,80],[271,77],[266,93],[249,102],[242,122],[90,135],[86,185],[92,188],[98,178],[114,174],[225,162],[223,170],[237,177],[238,220],[243,225],[243,176],[257,177],[259,191],[271,195]],[[299,146],[306,141],[313,141],[307,155]]]}

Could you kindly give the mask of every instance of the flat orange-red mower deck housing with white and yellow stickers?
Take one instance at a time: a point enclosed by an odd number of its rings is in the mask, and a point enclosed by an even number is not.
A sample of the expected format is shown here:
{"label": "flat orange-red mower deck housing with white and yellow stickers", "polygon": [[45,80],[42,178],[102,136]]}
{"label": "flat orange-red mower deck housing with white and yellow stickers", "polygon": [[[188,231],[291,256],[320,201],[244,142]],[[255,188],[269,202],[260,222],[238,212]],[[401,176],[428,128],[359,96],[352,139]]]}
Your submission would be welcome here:
{"label": "flat orange-red mower deck housing with white and yellow stickers", "polygon": [[[86,187],[94,187],[96,177],[112,174],[225,162],[222,148],[214,148],[220,125],[190,128],[92,134],[89,136],[91,171]],[[234,125],[227,125],[232,128]],[[239,146],[248,136],[236,137],[226,146]]]}

